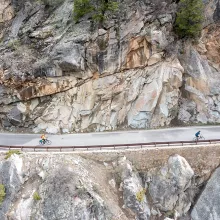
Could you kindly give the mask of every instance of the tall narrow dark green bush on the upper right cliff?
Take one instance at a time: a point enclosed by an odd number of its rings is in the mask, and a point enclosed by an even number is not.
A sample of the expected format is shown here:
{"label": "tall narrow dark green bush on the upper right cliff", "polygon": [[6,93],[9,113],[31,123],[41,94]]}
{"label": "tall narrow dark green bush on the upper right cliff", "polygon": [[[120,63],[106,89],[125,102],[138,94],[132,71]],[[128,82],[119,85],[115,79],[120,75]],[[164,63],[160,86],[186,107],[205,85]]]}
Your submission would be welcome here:
{"label": "tall narrow dark green bush on the upper right cliff", "polygon": [[202,0],[180,0],[175,32],[180,38],[196,38],[202,30],[204,5]]}

